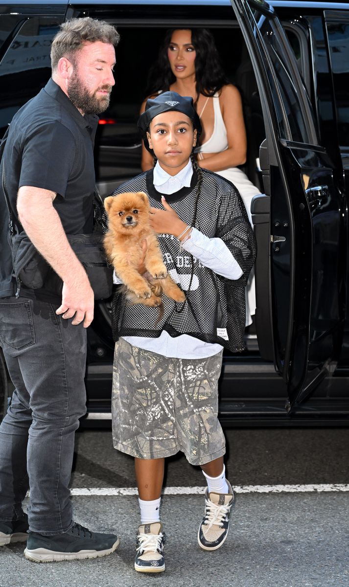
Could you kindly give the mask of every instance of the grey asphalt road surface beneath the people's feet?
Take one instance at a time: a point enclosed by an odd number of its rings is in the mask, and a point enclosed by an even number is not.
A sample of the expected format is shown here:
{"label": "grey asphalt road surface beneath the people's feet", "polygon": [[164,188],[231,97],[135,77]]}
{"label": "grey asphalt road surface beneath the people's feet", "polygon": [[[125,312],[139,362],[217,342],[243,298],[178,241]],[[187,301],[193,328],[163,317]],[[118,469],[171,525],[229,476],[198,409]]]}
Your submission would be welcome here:
{"label": "grey asphalt road surface beneath the people's feet", "polygon": [[[202,495],[164,495],[166,572],[133,570],[139,524],[136,495],[94,495],[96,489],[135,487],[132,458],[112,448],[110,431],[76,434],[71,487],[75,519],[99,531],[116,531],[115,554],[91,561],[36,565],[23,545],[1,549],[0,587],[347,587],[349,492],[258,493],[260,485],[348,484],[349,429],[226,430],[227,471],[238,493],[231,529],[219,551],[196,542]],[[166,487],[203,486],[199,468],[169,460]]]}

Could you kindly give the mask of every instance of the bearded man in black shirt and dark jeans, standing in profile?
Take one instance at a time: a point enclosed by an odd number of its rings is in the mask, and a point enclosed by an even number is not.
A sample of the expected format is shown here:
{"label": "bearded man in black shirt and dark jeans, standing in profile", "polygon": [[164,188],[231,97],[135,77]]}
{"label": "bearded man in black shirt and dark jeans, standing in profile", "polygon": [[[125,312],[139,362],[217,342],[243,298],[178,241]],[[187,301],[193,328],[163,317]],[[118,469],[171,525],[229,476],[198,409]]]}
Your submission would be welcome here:
{"label": "bearded man in black shirt and dark jeans, standing in profile", "polygon": [[[115,534],[90,532],[72,516],[68,484],[75,430],[86,411],[94,300],[66,238],[92,232],[96,114],[109,104],[118,42],[106,22],[82,18],[61,26],[52,77],[15,114],[0,169],[14,214],[63,281],[61,296],[49,283],[35,290],[16,284],[1,194],[0,345],[15,391],[0,426],[0,545],[28,538],[25,556],[35,562],[94,558],[119,545]],[[29,487],[27,517],[22,501]]]}

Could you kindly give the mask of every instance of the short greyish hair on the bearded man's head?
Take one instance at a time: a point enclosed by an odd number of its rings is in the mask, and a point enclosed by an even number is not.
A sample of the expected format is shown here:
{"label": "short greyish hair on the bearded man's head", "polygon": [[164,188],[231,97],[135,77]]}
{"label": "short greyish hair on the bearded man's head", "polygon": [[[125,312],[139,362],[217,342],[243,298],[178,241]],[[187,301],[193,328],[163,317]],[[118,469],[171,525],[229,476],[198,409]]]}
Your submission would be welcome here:
{"label": "short greyish hair on the bearded man's head", "polygon": [[73,60],[74,54],[83,48],[85,42],[96,41],[116,46],[120,41],[120,35],[108,22],[97,21],[89,16],[63,22],[51,46],[52,70],[56,69],[62,57]]}

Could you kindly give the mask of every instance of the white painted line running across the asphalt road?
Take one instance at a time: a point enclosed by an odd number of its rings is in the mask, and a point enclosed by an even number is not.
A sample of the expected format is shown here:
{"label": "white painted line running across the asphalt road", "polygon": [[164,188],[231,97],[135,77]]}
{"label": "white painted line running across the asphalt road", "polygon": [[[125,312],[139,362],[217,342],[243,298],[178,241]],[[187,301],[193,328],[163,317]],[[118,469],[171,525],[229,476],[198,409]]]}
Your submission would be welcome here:
{"label": "white painted line running across the asphalt road", "polygon": [[[349,484],[311,484],[311,485],[234,485],[236,493],[321,493],[349,492]],[[206,487],[165,487],[163,495],[201,495]],[[136,487],[91,487],[73,488],[71,494],[79,495],[137,495]]]}

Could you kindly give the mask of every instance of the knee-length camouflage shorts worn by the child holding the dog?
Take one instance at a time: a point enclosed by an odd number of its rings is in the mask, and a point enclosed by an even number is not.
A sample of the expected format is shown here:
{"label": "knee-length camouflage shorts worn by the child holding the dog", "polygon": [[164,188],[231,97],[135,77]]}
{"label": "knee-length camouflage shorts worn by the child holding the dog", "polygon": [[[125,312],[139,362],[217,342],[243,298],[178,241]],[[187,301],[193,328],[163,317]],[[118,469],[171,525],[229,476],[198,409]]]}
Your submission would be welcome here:
{"label": "knee-length camouflage shorts worn by the child holding the dog", "polygon": [[138,458],[182,451],[193,465],[223,456],[217,419],[222,354],[171,359],[120,338],[113,365],[115,448]]}

